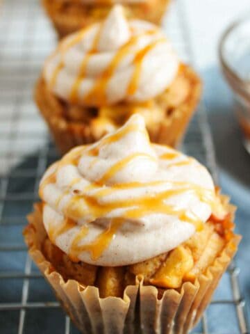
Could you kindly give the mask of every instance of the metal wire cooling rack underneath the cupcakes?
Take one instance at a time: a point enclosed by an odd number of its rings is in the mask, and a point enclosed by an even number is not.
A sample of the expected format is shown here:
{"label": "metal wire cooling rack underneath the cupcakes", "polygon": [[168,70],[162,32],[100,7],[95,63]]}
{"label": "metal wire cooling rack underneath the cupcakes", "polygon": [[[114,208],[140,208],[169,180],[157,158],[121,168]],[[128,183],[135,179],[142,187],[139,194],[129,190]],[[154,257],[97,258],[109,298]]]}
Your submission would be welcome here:
{"label": "metal wire cooling rack underneath the cupcakes", "polygon": [[[192,62],[181,0],[165,27],[185,62]],[[0,333],[78,333],[26,252],[22,229],[38,199],[42,173],[58,159],[32,101],[35,79],[56,44],[38,0],[0,2]],[[213,142],[201,105],[183,150],[206,164],[217,180]],[[239,269],[231,265],[213,302],[192,333],[248,333]]]}

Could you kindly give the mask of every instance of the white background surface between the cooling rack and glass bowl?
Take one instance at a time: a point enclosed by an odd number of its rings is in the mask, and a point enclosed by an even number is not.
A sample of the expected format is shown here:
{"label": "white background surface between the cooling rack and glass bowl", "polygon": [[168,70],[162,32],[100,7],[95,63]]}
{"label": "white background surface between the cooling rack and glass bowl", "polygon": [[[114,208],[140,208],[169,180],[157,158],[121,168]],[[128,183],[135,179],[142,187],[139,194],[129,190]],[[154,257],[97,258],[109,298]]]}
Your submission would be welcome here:
{"label": "white background surface between the cooling rack and glass bowl", "polygon": [[217,62],[217,45],[226,26],[247,12],[250,0],[183,0],[199,70]]}

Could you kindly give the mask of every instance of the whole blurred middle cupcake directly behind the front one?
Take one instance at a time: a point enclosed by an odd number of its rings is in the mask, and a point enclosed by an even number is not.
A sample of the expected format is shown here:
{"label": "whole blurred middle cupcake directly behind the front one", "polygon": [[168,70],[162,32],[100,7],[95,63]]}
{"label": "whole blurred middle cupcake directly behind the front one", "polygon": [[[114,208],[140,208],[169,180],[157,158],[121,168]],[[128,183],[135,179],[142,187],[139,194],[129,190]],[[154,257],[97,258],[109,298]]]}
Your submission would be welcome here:
{"label": "whole blurred middle cupcake directly behind the front one", "polygon": [[69,35],[47,59],[35,101],[60,152],[93,143],[140,113],[151,141],[181,141],[201,93],[158,27],[128,21],[115,6],[101,22]]}

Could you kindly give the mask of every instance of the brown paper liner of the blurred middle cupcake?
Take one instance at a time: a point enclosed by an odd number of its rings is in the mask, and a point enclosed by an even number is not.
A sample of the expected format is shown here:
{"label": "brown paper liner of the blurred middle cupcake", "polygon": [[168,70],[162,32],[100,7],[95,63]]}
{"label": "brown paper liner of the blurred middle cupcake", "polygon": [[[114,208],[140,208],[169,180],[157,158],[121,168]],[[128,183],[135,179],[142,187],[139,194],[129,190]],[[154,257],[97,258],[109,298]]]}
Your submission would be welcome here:
{"label": "brown paper liner of the blurred middle cupcake", "polygon": [[[196,109],[201,96],[201,80],[191,67],[183,65],[183,72],[190,84],[190,92],[185,100],[176,106],[171,113],[166,113],[160,125],[149,128],[153,143],[176,147],[185,134],[190,118]],[[35,102],[51,131],[56,145],[62,154],[76,145],[94,143],[103,136],[98,125],[91,122],[93,118],[72,121],[67,117],[67,104],[51,93],[44,79],[40,77],[35,86]],[[153,111],[152,111],[153,112]],[[93,116],[94,117],[94,116]],[[106,133],[104,133],[106,134]]]}

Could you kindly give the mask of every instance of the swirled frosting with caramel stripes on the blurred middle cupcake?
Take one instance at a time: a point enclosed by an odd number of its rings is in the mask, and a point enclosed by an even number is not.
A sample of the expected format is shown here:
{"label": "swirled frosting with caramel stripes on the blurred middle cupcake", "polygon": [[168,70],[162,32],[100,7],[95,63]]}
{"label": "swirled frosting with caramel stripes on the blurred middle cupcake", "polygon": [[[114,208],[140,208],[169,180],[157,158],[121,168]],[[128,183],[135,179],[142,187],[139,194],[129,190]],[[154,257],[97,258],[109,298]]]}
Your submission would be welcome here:
{"label": "swirled frosting with caramel stripes on the blurred middle cupcake", "polygon": [[172,83],[178,58],[153,24],[128,21],[115,6],[103,22],[69,35],[44,66],[58,97],[83,106],[142,102]]}

